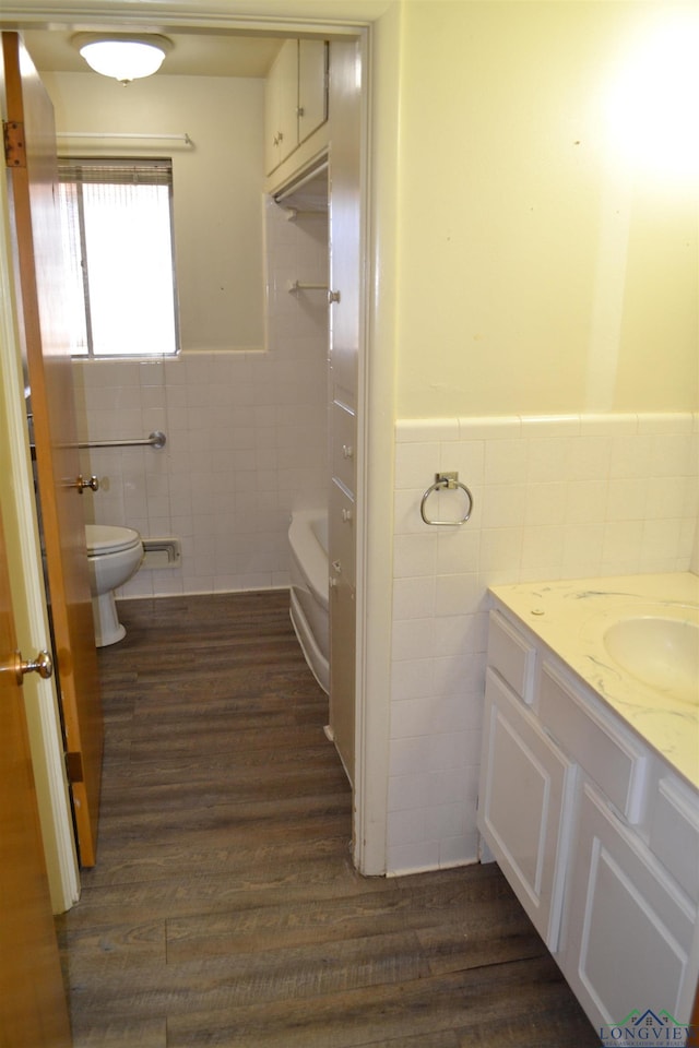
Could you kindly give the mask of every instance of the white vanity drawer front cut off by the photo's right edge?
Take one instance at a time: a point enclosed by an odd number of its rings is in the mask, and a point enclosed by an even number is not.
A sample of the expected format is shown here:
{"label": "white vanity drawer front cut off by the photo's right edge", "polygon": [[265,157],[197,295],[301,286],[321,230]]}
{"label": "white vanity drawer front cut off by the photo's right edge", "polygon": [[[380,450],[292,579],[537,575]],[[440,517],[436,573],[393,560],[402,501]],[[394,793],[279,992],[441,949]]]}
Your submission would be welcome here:
{"label": "white vanity drawer front cut off by the photo's right edge", "polygon": [[699,903],[699,809],[696,795],[661,778],[651,800],[651,851],[687,895]]}

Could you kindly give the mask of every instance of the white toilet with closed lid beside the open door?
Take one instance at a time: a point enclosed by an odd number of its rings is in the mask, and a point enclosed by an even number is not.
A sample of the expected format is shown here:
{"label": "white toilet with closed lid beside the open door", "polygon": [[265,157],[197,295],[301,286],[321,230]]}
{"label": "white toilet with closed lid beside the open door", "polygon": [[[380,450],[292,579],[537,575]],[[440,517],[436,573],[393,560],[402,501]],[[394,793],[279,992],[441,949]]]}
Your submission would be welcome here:
{"label": "white toilet with closed lid beside the open door", "polygon": [[114,591],[137,573],[143,560],[141,536],[132,527],[85,524],[92,616],[97,647],[116,644],[126,635],[117,617]]}

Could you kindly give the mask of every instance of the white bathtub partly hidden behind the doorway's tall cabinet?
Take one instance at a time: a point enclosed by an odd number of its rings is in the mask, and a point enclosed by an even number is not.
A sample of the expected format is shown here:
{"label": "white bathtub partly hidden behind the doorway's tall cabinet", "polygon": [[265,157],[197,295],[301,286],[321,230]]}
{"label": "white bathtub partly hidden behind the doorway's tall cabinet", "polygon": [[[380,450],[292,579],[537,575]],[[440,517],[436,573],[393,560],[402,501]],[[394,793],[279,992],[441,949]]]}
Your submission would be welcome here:
{"label": "white bathtub partly hidden behind the doorway's tall cabinet", "polygon": [[292,623],[313,677],[330,690],[328,514],[295,510],[288,527]]}

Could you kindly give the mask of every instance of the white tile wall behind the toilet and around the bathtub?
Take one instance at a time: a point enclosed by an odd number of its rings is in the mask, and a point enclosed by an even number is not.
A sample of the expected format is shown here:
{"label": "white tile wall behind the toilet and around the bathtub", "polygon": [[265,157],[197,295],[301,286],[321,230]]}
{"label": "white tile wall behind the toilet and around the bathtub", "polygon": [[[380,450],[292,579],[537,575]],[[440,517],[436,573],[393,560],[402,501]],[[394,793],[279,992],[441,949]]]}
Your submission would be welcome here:
{"label": "white tile wall behind the toilet and around the bathtub", "polygon": [[327,282],[328,223],[269,200],[265,217],[266,352],[76,365],[87,439],[167,436],[163,451],[84,453],[95,521],[181,540],[179,568],[142,569],[121,596],[286,585],[289,512],[324,504],[328,306],[287,286]]}

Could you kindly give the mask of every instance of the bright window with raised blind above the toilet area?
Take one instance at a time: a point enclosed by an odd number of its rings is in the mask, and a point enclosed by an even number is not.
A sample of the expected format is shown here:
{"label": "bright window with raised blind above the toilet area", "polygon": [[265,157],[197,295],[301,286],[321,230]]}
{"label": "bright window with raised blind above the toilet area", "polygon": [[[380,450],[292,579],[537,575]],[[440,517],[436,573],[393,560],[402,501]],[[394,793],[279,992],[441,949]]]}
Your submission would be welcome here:
{"label": "bright window with raised blind above the toilet area", "polygon": [[71,353],[177,353],[170,160],[59,160]]}

